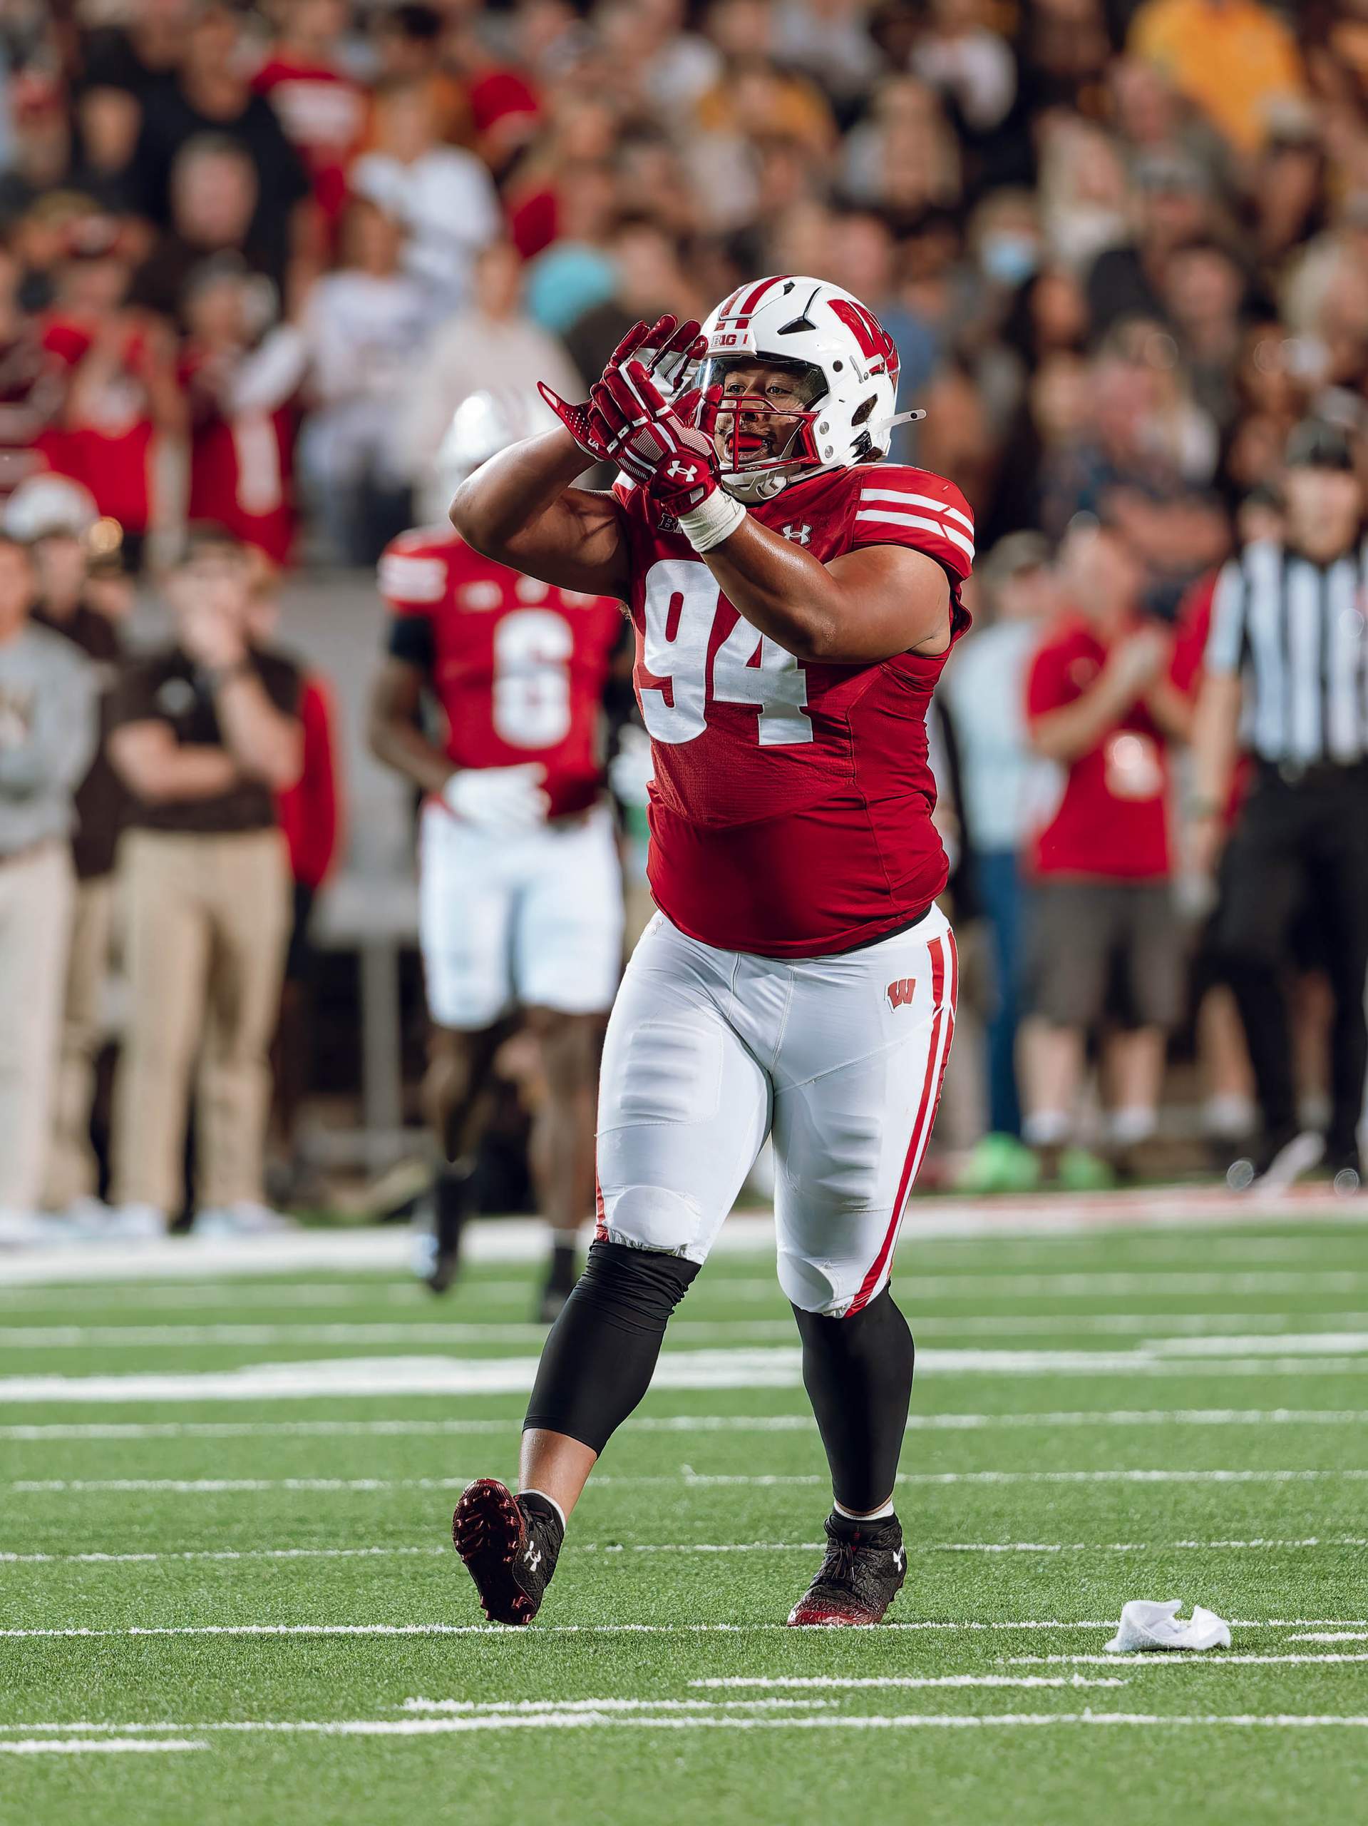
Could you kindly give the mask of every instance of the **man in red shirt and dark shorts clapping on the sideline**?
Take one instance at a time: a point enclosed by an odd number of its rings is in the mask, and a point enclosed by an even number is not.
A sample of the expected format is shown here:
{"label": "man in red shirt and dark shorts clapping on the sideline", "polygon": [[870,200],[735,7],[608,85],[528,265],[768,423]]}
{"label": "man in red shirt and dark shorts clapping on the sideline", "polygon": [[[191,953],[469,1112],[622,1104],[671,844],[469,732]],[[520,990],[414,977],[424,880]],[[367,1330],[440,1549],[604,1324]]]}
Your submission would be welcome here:
{"label": "man in red shirt and dark shorts clapping on the sideline", "polygon": [[1025,1139],[1052,1176],[1073,1139],[1089,1034],[1111,1017],[1109,1141],[1118,1165],[1155,1132],[1164,1039],[1180,1013],[1169,895],[1169,740],[1191,723],[1191,679],[1167,630],[1136,610],[1144,572],[1113,530],[1076,524],[1065,599],[1027,679],[1032,749],[1065,769],[1029,858],[1029,992],[1038,1015],[1025,1072]]}

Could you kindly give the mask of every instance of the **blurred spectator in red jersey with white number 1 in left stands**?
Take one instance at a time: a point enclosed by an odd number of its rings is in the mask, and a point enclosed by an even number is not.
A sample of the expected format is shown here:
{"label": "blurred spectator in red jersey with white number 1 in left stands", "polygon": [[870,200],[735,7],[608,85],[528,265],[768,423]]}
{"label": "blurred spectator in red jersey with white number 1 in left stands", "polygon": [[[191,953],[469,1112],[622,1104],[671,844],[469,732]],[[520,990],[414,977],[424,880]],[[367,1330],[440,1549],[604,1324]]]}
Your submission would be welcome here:
{"label": "blurred spectator in red jersey with white number 1 in left stands", "polygon": [[294,440],[308,351],[288,323],[263,336],[257,307],[257,285],[233,256],[206,261],[186,289],[190,336],[179,376],[190,404],[188,517],[224,526],[285,564],[295,533]]}

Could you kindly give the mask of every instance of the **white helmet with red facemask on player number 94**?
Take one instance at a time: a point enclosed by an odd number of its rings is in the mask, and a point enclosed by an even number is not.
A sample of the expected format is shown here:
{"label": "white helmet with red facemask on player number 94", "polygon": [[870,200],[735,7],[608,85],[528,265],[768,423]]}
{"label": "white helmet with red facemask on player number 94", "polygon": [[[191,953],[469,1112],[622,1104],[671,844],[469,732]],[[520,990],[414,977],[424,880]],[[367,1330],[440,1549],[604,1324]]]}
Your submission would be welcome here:
{"label": "white helmet with red facemask on player number 94", "polygon": [[[779,274],[731,292],[702,325],[706,351],[684,389],[699,389],[693,422],[722,449],[722,488],[766,500],[788,482],[885,456],[896,424],[897,349],[852,292],[826,279]],[[795,404],[744,393],[728,376],[757,362],[793,371]],[[782,449],[766,416],[795,418]],[[720,433],[720,436],[719,436]]]}

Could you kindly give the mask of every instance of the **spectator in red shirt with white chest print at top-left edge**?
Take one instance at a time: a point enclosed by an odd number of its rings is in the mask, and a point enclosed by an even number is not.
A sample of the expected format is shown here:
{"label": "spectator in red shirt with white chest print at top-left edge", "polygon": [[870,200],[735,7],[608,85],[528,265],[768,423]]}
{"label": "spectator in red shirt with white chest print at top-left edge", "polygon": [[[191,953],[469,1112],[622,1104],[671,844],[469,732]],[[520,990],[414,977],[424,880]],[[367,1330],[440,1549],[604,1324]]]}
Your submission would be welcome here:
{"label": "spectator in red shirt with white chest print at top-left edge", "polygon": [[367,99],[337,60],[347,29],[343,0],[288,0],[285,29],[252,79],[264,95],[314,184],[332,234],[347,203],[347,166],[367,122]]}

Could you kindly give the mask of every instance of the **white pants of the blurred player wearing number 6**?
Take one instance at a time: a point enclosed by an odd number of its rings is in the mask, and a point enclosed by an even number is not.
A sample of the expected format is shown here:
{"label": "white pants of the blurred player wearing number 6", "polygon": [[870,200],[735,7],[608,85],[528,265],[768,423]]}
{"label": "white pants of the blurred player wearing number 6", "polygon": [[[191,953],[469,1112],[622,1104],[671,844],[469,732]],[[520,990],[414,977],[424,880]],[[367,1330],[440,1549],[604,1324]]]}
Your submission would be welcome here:
{"label": "white pants of the blurred player wearing number 6", "polygon": [[505,834],[429,803],[418,833],[418,939],[438,1026],[485,1028],[514,1004],[600,1013],[622,970],[613,814]]}

